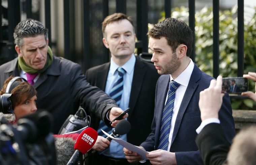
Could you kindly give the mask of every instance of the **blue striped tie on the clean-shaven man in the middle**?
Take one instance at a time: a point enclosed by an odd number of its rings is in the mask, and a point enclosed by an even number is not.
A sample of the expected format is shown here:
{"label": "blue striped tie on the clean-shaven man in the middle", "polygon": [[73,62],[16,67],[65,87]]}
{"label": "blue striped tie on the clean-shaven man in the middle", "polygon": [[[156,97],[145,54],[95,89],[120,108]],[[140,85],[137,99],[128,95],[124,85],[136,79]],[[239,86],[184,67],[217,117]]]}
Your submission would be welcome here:
{"label": "blue striped tie on the clean-shaven man in the middle", "polygon": [[[121,102],[121,97],[123,94],[123,88],[124,88],[123,76],[125,74],[125,70],[123,68],[119,67],[119,68],[117,68],[117,71],[118,71],[118,79],[117,79],[116,83],[113,85],[112,89],[110,90],[109,96],[111,98],[113,98],[117,102],[117,105],[119,106],[120,102]],[[112,128],[106,126],[102,120],[100,120],[98,135],[106,137],[106,135],[100,129],[104,130],[108,134],[110,134],[111,130],[112,130]]]}

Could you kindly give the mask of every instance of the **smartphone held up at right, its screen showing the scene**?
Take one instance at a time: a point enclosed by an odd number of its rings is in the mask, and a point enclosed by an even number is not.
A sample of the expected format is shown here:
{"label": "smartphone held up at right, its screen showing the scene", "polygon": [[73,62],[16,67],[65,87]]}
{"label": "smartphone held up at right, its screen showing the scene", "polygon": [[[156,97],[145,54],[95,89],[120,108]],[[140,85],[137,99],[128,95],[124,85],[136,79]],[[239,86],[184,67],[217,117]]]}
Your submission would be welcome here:
{"label": "smartphone held up at right, its screen showing the scene", "polygon": [[248,91],[248,79],[244,77],[225,77],[222,79],[222,93],[241,94]]}

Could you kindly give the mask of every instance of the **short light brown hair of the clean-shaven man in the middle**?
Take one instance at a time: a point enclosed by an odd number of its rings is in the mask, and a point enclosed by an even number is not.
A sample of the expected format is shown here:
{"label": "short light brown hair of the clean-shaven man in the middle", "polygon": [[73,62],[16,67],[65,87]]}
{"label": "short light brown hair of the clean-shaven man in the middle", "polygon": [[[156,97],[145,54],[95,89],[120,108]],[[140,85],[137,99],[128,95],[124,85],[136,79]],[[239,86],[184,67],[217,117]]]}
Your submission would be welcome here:
{"label": "short light brown hair of the clean-shaven man in the middle", "polygon": [[[114,14],[108,15],[102,22],[101,30],[102,30],[103,36],[105,37],[105,29],[107,24],[121,21],[123,19],[127,19],[133,26],[132,18],[130,16],[125,15],[124,13],[114,13]],[[133,27],[133,31],[134,31],[134,27]]]}

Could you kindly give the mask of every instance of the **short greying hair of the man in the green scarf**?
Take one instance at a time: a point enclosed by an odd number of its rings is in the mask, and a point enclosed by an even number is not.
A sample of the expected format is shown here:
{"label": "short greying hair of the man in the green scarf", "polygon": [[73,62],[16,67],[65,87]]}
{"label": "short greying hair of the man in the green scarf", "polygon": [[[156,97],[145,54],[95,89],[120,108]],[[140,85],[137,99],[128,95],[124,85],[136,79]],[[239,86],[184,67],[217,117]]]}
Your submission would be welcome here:
{"label": "short greying hair of the man in the green scarf", "polygon": [[41,22],[30,18],[18,23],[13,33],[14,42],[19,47],[23,46],[24,37],[36,37],[38,35],[44,35],[45,40],[47,40],[48,30]]}

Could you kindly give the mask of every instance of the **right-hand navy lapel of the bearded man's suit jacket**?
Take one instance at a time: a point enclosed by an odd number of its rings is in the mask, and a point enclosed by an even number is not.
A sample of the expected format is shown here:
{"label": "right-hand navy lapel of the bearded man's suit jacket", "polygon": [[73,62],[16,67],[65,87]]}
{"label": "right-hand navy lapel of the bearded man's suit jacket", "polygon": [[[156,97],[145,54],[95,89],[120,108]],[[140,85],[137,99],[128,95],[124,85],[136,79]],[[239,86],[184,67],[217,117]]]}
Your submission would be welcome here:
{"label": "right-hand navy lapel of the bearded man's suit jacket", "polygon": [[200,77],[201,77],[201,71],[196,65],[194,65],[194,69],[193,69],[193,72],[191,74],[187,90],[186,90],[186,92],[183,96],[181,106],[180,106],[180,109],[179,109],[179,112],[178,112],[178,115],[177,115],[177,118],[176,118],[176,121],[175,121],[173,134],[172,134],[172,139],[171,139],[171,145],[172,145],[172,143],[173,143],[173,141],[174,141],[174,139],[175,139],[175,137],[176,137],[176,135],[179,131],[183,115],[184,115],[184,113],[187,109],[187,106],[188,106],[188,104],[189,104],[197,86],[198,86],[197,81],[200,79]]}

